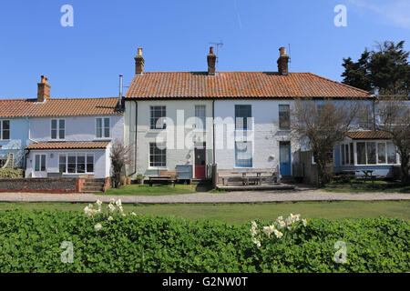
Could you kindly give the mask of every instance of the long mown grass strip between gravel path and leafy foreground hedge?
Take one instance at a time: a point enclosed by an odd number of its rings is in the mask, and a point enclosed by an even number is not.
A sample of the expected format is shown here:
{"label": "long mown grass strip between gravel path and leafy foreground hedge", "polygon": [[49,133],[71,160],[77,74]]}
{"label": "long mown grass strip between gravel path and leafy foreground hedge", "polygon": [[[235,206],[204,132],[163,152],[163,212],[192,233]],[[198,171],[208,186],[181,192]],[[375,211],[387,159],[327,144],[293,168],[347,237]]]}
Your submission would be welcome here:
{"label": "long mown grass strip between gravel path and leafy foreground hedge", "polygon": [[[81,211],[85,203],[0,203],[0,211],[20,207],[23,209],[60,209]],[[106,206],[103,206],[106,207]],[[188,219],[214,219],[231,224],[242,224],[251,219],[272,220],[277,216],[299,213],[308,218],[374,218],[397,217],[410,220],[410,201],[377,202],[298,202],[263,204],[172,204],[124,205],[126,212],[138,214],[182,216]]]}

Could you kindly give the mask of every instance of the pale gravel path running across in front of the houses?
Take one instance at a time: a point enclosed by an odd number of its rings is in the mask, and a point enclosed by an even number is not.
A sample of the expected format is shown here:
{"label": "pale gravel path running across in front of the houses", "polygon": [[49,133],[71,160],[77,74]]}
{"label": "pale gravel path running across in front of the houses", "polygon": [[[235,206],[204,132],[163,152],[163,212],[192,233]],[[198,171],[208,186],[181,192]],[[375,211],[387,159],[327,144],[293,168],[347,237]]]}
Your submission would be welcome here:
{"label": "pale gravel path running across in front of the houses", "polygon": [[100,196],[94,194],[43,194],[43,193],[0,193],[0,202],[87,202],[97,199],[121,199],[123,203],[171,204],[171,203],[261,203],[283,201],[376,201],[410,200],[405,193],[329,193],[321,190],[292,191],[241,191],[226,194],[195,193],[170,196]]}

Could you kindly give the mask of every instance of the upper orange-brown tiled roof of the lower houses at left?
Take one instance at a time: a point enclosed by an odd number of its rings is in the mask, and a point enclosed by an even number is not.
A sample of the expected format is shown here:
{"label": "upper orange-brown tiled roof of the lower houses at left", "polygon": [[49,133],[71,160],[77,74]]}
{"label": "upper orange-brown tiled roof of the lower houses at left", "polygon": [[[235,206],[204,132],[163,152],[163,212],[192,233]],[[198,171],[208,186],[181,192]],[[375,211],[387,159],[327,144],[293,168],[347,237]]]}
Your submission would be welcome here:
{"label": "upper orange-brown tiled roof of the lower houses at left", "polygon": [[36,99],[0,100],[0,117],[43,117],[78,115],[118,115],[118,97],[49,98],[44,103]]}

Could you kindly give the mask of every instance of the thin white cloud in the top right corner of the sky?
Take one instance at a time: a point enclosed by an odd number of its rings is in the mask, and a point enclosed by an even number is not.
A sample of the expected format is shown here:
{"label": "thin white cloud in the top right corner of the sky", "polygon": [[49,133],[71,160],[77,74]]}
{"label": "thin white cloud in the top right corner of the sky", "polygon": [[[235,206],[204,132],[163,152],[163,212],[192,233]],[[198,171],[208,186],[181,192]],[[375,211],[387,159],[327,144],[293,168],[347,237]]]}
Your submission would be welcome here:
{"label": "thin white cloud in the top right corner of the sky", "polygon": [[410,29],[410,1],[374,1],[374,0],[349,0],[349,3],[371,10],[383,17],[385,22],[397,27]]}

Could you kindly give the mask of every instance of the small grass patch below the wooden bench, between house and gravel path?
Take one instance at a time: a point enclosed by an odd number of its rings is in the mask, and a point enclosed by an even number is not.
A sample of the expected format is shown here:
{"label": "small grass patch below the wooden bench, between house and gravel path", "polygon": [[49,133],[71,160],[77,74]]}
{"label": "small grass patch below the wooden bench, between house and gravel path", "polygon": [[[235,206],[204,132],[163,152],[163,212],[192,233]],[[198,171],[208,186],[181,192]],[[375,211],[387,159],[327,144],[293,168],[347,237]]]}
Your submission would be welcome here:
{"label": "small grass patch below the wooden bench, between house and gravel path", "polygon": [[[204,191],[210,191],[208,189],[201,189]],[[176,184],[174,186],[167,185],[138,185],[132,184],[127,186],[121,186],[120,188],[109,188],[106,193],[97,193],[97,195],[133,195],[133,196],[167,196],[167,195],[181,195],[197,192],[196,185],[183,185]]]}

